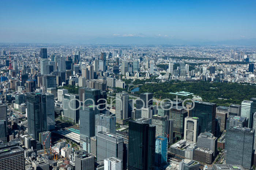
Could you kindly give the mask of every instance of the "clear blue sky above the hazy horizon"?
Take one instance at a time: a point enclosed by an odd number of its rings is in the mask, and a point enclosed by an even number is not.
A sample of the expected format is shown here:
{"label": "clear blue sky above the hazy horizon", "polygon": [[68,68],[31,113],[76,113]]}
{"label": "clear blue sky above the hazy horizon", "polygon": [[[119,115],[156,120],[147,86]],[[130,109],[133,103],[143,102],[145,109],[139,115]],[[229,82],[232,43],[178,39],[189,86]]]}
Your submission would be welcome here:
{"label": "clear blue sky above the hazy horizon", "polygon": [[256,38],[256,0],[1,0],[0,4],[0,42]]}

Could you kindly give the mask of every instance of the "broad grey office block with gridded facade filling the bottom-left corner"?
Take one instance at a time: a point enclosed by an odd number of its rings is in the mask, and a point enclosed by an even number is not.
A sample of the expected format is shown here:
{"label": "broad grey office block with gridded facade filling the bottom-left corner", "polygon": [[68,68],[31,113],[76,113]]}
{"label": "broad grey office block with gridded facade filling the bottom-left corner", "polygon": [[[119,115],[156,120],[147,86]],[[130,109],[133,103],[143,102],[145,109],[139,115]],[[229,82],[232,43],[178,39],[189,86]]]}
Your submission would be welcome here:
{"label": "broad grey office block with gridded facade filling the bottom-left corner", "polygon": [[0,149],[0,169],[25,170],[24,149],[20,146]]}

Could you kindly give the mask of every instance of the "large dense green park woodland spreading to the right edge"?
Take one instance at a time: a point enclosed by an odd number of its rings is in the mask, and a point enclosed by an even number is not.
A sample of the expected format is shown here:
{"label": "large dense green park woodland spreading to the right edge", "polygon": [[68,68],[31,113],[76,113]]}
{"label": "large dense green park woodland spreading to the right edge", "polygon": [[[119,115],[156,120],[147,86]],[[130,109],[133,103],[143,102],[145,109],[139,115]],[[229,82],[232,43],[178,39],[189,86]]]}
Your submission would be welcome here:
{"label": "large dense green park woodland spreading to the right edge", "polygon": [[[143,84],[140,90],[135,92],[139,95],[143,92],[154,93],[155,98],[168,98],[173,100],[175,95],[169,92],[188,91],[202,97],[204,102],[217,103],[218,106],[229,106],[230,104],[241,104],[243,100],[256,97],[256,86],[238,83],[210,83],[210,82],[165,82],[157,84]],[[178,96],[181,99],[192,98],[192,96]],[[218,99],[221,98],[221,99]]]}

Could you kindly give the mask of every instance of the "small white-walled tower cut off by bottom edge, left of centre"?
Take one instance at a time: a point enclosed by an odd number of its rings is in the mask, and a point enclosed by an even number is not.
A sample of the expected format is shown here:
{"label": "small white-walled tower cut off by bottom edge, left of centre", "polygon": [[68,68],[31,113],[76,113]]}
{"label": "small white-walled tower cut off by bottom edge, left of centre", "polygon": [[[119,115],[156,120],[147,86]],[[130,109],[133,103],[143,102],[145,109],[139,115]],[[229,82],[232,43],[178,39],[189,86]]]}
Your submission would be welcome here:
{"label": "small white-walled tower cut off by bottom edge, left of centre", "polygon": [[75,157],[75,170],[94,170],[94,156],[81,154]]}

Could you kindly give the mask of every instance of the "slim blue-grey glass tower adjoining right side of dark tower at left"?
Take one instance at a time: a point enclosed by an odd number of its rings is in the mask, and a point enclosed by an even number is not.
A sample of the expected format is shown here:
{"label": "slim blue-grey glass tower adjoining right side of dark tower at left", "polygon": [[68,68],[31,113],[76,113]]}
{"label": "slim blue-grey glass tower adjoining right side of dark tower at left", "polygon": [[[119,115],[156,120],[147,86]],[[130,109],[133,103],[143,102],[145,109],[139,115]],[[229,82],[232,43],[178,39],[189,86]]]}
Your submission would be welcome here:
{"label": "slim blue-grey glass tower adjoining right side of dark tower at left", "polygon": [[47,130],[55,129],[55,115],[54,115],[54,95],[45,93],[46,97],[46,114],[47,114]]}

